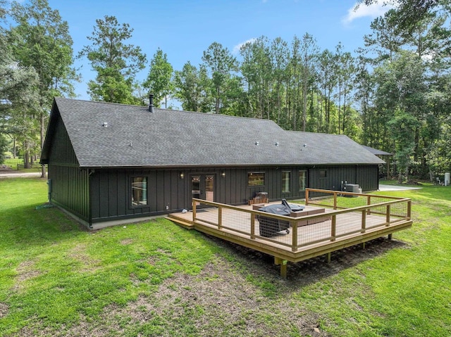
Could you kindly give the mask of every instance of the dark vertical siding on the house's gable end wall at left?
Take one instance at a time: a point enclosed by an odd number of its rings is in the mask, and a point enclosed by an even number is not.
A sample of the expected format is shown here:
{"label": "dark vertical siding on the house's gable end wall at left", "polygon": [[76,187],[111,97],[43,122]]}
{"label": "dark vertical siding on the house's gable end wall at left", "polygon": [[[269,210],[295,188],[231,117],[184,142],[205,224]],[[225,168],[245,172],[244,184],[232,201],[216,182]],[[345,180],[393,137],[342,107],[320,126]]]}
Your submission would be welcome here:
{"label": "dark vertical siding on the house's gable end wall at left", "polygon": [[48,170],[50,201],[89,222],[89,172],[78,167],[61,119],[56,122]]}

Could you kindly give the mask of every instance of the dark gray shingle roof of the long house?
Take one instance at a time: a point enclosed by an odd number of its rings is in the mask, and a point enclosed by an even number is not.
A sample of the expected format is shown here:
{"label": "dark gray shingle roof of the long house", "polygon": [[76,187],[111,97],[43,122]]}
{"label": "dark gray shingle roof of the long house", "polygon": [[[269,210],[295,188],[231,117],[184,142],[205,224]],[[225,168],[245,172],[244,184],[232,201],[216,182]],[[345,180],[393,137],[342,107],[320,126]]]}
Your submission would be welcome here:
{"label": "dark gray shingle roof of the long house", "polygon": [[[56,108],[80,167],[383,163],[347,136],[288,132],[270,120],[68,98],[55,98],[52,115]],[[51,139],[44,161],[46,146]]]}

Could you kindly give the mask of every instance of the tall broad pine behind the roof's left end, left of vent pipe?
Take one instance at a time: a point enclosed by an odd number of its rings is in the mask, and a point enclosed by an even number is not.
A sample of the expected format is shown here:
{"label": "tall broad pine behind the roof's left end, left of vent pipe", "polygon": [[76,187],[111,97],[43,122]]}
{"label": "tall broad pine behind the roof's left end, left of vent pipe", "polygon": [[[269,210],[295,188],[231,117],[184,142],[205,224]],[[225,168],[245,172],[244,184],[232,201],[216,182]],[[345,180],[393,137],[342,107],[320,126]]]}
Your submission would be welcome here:
{"label": "tall broad pine behind the roof's left end, left of vent pipe", "polygon": [[125,44],[132,37],[133,30],[128,23],[122,25],[114,16],[97,19],[90,37],[92,42],[84,46],[78,57],[86,56],[92,69],[97,72],[96,80],[88,83],[89,95],[97,101],[111,103],[142,103],[133,95],[137,84],[135,75],[144,69],[146,55],[140,47]]}

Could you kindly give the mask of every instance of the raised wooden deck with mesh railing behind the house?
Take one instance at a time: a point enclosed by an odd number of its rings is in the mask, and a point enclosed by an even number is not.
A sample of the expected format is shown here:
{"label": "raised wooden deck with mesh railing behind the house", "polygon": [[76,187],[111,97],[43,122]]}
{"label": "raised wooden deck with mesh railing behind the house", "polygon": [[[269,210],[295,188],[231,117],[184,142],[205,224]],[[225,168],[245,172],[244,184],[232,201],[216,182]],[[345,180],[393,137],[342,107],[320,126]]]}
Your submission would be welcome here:
{"label": "raised wooden deck with mesh railing behind the house", "polygon": [[[384,199],[383,202],[371,204],[370,195],[353,194],[365,198],[368,205],[338,210],[339,203],[335,195],[335,210],[321,205],[313,206],[310,201],[303,211],[285,217],[254,210],[253,205],[230,206],[193,199],[192,211],[173,213],[168,218],[185,228],[273,255],[276,264],[280,265],[281,276],[286,277],[287,262],[299,262],[324,254],[328,254],[330,260],[330,252],[334,250],[385,235],[391,238],[395,231],[412,227],[409,199],[389,198],[388,201]],[[383,198],[374,197],[377,201]],[[196,203],[206,208],[199,209]],[[316,214],[305,215],[309,211]],[[261,236],[261,224],[258,221],[261,215],[273,218],[276,223],[278,220],[285,224],[289,222],[289,233],[283,230],[270,237]]]}

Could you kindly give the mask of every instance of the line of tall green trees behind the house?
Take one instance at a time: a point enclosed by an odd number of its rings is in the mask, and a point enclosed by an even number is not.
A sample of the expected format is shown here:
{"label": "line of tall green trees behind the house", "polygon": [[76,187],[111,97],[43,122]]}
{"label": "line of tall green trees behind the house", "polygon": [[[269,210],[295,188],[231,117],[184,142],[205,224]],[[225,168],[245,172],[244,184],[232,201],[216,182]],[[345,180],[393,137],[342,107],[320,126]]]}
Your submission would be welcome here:
{"label": "line of tall green trees behind the house", "polygon": [[[81,58],[96,73],[88,82],[94,101],[144,105],[152,93],[157,107],[177,100],[183,110],[347,134],[393,153],[400,179],[433,179],[451,168],[449,0],[401,0],[373,20],[354,53],[341,43],[321,50],[308,33],[291,41],[261,36],[237,56],[213,42],[202,63],[180,70],[161,49],[148,62],[140,46],[128,44],[132,27],[114,16],[96,20],[74,53],[67,22],[47,0],[7,4],[0,0],[0,150],[14,141],[26,162],[42,146],[52,97],[75,96],[73,63]],[[147,65],[146,79],[137,81]]]}

